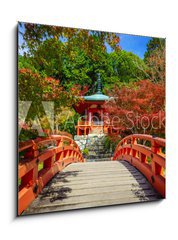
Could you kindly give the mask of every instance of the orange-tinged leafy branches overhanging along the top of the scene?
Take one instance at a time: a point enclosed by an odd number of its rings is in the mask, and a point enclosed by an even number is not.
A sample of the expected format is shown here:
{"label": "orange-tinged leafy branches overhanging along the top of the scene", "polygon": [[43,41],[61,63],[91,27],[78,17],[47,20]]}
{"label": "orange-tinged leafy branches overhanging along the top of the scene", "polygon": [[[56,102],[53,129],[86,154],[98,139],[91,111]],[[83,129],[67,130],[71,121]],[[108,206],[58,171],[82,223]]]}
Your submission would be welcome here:
{"label": "orange-tinged leafy branches overhanging along the top of the scene", "polygon": [[83,50],[92,60],[99,60],[98,51],[106,52],[106,42],[115,51],[119,51],[119,34],[91,31],[77,28],[48,26],[42,24],[20,23],[24,28],[23,47],[28,47],[28,53],[33,55],[42,42],[55,39],[62,43],[63,52],[72,53],[74,46]]}

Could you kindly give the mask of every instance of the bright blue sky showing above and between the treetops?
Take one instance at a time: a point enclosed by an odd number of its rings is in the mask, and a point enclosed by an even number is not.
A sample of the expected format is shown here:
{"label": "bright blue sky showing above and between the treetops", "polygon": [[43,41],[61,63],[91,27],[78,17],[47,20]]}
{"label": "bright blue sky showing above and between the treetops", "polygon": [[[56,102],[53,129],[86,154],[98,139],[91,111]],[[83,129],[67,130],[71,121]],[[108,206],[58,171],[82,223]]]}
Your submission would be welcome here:
{"label": "bright blue sky showing above and between the treetops", "polygon": [[[24,28],[20,27],[19,30],[24,32]],[[146,52],[147,43],[151,37],[130,35],[130,34],[120,34],[120,46],[122,50],[127,52],[132,52],[138,55],[140,58],[144,58],[144,53]],[[23,43],[23,37],[19,34],[19,45]],[[107,46],[108,52],[111,51],[110,47]],[[20,54],[23,54],[23,51],[19,51]]]}

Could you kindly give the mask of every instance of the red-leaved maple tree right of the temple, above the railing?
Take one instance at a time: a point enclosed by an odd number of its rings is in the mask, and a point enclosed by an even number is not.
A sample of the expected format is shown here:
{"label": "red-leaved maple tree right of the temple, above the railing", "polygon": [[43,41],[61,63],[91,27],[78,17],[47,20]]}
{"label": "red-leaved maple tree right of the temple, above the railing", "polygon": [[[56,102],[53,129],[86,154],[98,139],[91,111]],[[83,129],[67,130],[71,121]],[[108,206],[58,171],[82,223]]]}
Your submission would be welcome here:
{"label": "red-leaved maple tree right of the temple, above the railing", "polygon": [[165,84],[142,80],[130,87],[115,87],[107,103],[110,121],[121,135],[165,133]]}

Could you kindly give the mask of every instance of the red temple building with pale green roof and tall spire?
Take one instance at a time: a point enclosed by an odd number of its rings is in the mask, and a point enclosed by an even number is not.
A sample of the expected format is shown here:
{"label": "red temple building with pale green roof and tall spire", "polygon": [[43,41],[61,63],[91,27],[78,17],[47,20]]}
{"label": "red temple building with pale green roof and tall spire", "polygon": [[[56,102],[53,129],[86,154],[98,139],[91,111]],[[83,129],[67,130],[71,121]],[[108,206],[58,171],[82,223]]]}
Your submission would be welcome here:
{"label": "red temple building with pale green roof and tall spire", "polygon": [[80,114],[80,120],[76,126],[77,135],[108,134],[115,132],[110,124],[105,103],[110,100],[101,91],[101,81],[98,75],[98,90],[90,96],[83,96],[83,101],[75,106],[76,112]]}

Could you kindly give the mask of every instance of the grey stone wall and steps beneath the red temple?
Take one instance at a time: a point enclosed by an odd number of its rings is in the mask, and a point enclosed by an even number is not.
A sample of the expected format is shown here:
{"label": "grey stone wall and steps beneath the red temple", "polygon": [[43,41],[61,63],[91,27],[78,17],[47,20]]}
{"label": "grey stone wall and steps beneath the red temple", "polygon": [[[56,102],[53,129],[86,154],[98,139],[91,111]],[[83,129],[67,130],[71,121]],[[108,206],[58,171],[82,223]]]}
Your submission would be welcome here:
{"label": "grey stone wall and steps beneath the red temple", "polygon": [[89,134],[87,136],[74,136],[75,142],[83,152],[84,149],[88,149],[88,156],[85,158],[90,161],[106,161],[110,160],[113,152],[111,149],[104,147],[105,135],[104,134]]}

